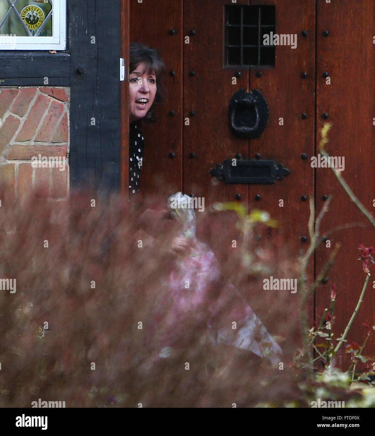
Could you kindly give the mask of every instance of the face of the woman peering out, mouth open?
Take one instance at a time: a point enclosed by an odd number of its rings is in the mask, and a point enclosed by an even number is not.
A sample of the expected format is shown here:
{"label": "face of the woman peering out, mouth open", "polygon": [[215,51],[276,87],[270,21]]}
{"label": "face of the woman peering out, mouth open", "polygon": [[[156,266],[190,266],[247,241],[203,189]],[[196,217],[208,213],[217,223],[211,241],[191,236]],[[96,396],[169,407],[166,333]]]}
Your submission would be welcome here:
{"label": "face of the woman peering out, mouth open", "polygon": [[156,75],[145,70],[143,62],[129,75],[129,121],[143,118],[153,104]]}

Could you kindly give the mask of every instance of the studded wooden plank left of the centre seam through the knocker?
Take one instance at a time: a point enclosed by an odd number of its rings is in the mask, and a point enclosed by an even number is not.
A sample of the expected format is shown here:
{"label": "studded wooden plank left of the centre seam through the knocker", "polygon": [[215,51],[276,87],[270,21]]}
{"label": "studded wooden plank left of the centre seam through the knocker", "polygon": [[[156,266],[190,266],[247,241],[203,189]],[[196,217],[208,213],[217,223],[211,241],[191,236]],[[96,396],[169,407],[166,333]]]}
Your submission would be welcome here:
{"label": "studded wooden plank left of the centre seam through the knocker", "polygon": [[[247,202],[248,186],[225,184],[209,175],[209,170],[234,158],[246,156],[249,140],[236,137],[229,128],[228,107],[233,93],[248,90],[247,68],[223,68],[223,0],[184,3],[184,35],[194,30],[184,44],[184,191],[210,201],[235,201],[235,194]],[[237,4],[248,4],[238,1]],[[237,71],[241,72],[232,78]],[[193,72],[195,73],[192,76]],[[190,112],[195,112],[191,117]],[[189,154],[194,153],[193,158]]]}

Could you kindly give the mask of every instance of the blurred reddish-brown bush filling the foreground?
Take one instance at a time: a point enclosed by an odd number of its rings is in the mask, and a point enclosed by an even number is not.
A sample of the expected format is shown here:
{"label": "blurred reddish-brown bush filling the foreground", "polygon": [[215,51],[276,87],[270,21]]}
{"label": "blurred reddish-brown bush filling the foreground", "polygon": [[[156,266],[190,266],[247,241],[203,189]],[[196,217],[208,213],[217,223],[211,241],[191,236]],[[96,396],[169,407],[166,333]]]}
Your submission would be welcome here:
{"label": "blurred reddish-brown bush filling the foreground", "polygon": [[[281,244],[252,235],[244,261],[233,212],[198,214],[199,238],[215,253],[221,275],[208,280],[206,298],[178,313],[177,322],[170,277],[178,275],[181,256],[169,247],[179,225],[163,207],[143,213],[165,198],[130,204],[102,195],[92,207],[82,193],[65,201],[36,195],[22,204],[1,197],[0,277],[17,279],[17,291],[0,291],[0,406],[31,407],[39,398],[66,407],[306,405],[289,368],[300,344],[299,295],[263,290],[263,278],[297,278],[295,262]],[[232,321],[240,322],[230,312],[221,317],[238,298],[229,283],[282,347],[283,369],[208,341],[213,304],[216,323],[228,322],[218,327],[230,331]],[[171,331],[173,351],[160,357]]]}

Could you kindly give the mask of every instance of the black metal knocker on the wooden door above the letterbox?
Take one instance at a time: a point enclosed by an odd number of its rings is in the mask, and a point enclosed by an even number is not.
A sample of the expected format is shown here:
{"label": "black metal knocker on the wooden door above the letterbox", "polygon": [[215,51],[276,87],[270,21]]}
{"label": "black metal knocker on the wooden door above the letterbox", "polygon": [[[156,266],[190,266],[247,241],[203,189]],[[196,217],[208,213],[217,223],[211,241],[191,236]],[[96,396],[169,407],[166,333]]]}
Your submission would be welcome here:
{"label": "black metal knocker on the wooden door above the letterbox", "polygon": [[229,102],[229,123],[240,138],[257,138],[268,121],[268,106],[261,92],[236,91]]}

